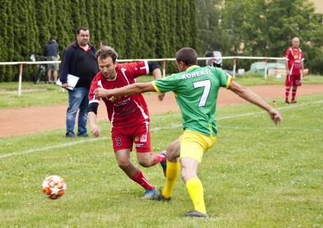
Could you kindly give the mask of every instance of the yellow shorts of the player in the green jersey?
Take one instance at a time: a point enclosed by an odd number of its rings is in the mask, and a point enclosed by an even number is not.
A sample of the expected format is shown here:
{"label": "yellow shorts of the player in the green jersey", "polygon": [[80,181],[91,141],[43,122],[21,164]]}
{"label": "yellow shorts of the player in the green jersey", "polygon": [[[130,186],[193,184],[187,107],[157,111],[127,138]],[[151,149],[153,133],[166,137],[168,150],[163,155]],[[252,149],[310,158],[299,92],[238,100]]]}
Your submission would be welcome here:
{"label": "yellow shorts of the player in the green jersey", "polygon": [[190,158],[201,163],[203,153],[216,142],[216,136],[206,136],[192,130],[180,135],[180,159]]}

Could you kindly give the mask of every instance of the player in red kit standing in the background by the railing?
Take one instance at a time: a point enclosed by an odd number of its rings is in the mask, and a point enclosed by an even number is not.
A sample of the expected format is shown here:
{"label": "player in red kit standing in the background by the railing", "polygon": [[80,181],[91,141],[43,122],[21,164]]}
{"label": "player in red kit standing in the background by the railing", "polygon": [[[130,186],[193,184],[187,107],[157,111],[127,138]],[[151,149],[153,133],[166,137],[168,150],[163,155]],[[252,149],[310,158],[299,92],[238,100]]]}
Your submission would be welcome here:
{"label": "player in red kit standing in the background by the railing", "polygon": [[301,86],[301,77],[304,75],[304,65],[303,65],[303,53],[301,48],[298,48],[300,41],[297,37],[291,40],[293,46],[286,50],[284,55],[285,66],[286,66],[286,81],[285,81],[285,103],[289,104],[289,91],[291,86],[291,104],[296,103],[296,90],[298,86]]}

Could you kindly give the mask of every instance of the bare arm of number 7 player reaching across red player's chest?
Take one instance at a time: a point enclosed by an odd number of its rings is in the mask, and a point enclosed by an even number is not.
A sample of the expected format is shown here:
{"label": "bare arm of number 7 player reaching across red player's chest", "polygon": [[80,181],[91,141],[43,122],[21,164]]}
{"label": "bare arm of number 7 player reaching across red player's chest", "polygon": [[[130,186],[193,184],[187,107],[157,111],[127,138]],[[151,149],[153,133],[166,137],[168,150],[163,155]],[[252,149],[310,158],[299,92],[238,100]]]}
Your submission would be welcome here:
{"label": "bare arm of number 7 player reaching across red player's chest", "polygon": [[146,83],[133,83],[128,86],[121,88],[114,88],[106,90],[104,88],[96,88],[94,94],[97,98],[106,98],[111,96],[124,96],[124,95],[134,95],[138,93],[156,92],[152,82]]}

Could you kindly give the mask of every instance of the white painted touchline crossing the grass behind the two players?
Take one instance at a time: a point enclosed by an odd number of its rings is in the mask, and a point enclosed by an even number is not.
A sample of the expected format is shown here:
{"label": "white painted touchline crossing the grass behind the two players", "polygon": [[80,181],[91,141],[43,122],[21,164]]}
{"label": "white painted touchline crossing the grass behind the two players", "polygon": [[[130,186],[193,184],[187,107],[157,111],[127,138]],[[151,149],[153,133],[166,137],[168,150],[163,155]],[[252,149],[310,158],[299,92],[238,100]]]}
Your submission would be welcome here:
{"label": "white painted touchline crossing the grass behind the two players", "polygon": [[[277,109],[279,109],[279,110],[293,109],[293,108],[302,107],[302,106],[305,106],[305,105],[320,104],[322,102],[323,102],[323,100],[319,100],[319,101],[316,101],[316,102],[302,103],[302,104],[299,104],[299,105],[296,105],[296,104],[294,104],[294,105],[286,105],[286,107],[278,107]],[[217,118],[217,120],[220,120],[220,119],[232,119],[232,118],[238,118],[238,117],[242,117],[242,116],[251,116],[251,115],[254,115],[254,114],[263,114],[263,113],[266,113],[266,112],[265,111],[249,112],[249,113],[239,114],[239,115],[234,115],[234,116],[223,116],[223,117]],[[157,130],[162,130],[162,129],[179,128],[179,127],[182,127],[182,124],[173,124],[171,126],[162,127],[162,128],[152,128],[150,130],[151,131],[157,131]],[[306,130],[306,129],[303,129],[303,130]],[[319,130],[319,129],[311,129],[311,130],[322,131],[322,130]],[[109,138],[107,138],[107,137],[92,138],[92,139],[89,139],[89,140],[79,140],[77,142],[69,142],[69,143],[65,143],[65,144],[62,144],[62,145],[55,145],[55,146],[51,146],[51,147],[43,147],[43,148],[39,148],[39,149],[27,149],[27,150],[22,151],[22,152],[16,152],[16,153],[11,153],[11,154],[0,155],[0,159],[6,158],[8,156],[15,156],[15,155],[21,155],[21,154],[31,154],[31,153],[34,153],[34,152],[42,152],[42,151],[46,151],[46,150],[49,150],[49,149],[55,149],[55,148],[60,148],[60,147],[68,147],[68,146],[72,146],[72,145],[78,145],[78,144],[81,144],[81,143],[84,143],[84,142],[94,142],[94,141],[97,141],[97,140],[108,140],[108,139],[111,139],[111,138],[110,137]]]}

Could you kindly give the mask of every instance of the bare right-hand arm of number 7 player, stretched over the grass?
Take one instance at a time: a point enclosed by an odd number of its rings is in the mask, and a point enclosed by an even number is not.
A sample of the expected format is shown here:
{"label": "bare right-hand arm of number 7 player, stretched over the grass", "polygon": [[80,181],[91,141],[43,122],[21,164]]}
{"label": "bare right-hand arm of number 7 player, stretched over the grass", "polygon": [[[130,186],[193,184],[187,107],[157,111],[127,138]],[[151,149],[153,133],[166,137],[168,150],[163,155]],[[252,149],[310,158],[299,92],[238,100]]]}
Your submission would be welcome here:
{"label": "bare right-hand arm of number 7 player, stretched over the grass", "polygon": [[274,109],[273,107],[268,105],[265,101],[263,101],[263,99],[261,99],[261,97],[259,97],[249,88],[240,86],[238,83],[235,83],[235,81],[231,81],[229,89],[233,93],[239,95],[239,97],[244,98],[244,100],[247,100],[254,105],[258,105],[259,107],[265,109],[269,113],[270,119],[272,119],[275,124],[282,123],[282,114],[280,114],[277,109]]}

